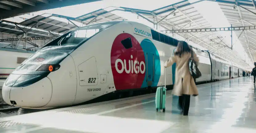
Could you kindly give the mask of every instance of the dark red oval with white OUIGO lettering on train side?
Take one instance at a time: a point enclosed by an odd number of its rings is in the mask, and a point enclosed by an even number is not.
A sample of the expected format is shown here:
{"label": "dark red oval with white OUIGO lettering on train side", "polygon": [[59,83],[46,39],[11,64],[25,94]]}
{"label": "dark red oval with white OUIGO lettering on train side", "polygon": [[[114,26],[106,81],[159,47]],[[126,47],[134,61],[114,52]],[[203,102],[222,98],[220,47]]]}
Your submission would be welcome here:
{"label": "dark red oval with white OUIGO lettering on train side", "polygon": [[[130,38],[132,46],[121,41]],[[129,42],[127,42],[129,43]],[[145,56],[138,40],[128,33],[119,34],[111,48],[111,69],[117,90],[141,88],[146,74]]]}

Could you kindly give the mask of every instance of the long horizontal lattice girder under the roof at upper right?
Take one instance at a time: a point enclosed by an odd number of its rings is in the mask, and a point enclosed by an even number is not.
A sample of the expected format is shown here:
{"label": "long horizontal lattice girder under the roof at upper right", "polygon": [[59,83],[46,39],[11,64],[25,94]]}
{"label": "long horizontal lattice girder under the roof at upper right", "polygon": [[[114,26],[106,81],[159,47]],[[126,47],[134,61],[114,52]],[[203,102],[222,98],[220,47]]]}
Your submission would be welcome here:
{"label": "long horizontal lattice girder under the roof at upper right", "polygon": [[202,28],[202,29],[177,29],[177,30],[162,30],[161,32],[164,32],[164,33],[190,33],[190,32],[254,30],[254,29],[256,29],[256,26],[237,26],[237,27]]}

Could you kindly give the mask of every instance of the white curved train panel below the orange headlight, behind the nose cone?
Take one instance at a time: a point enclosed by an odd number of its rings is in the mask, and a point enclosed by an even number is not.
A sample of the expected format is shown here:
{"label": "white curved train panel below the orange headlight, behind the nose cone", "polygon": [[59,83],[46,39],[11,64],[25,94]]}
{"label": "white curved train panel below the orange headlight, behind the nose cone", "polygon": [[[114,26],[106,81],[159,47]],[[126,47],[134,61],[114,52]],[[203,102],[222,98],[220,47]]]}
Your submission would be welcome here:
{"label": "white curved train panel below the orange headlight, behind the nose cone", "polygon": [[54,89],[52,89],[51,101],[44,107],[71,105],[75,101],[77,75],[72,57],[68,55],[60,66],[60,69],[47,76]]}

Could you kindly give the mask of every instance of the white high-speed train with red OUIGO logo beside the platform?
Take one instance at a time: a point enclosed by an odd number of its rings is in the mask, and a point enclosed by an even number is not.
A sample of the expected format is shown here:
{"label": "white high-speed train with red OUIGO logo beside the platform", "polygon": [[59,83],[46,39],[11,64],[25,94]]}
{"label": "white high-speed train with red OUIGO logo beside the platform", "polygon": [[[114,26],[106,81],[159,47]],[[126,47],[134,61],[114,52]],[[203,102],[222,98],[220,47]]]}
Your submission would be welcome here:
{"label": "white high-speed train with red OUIGO logo beside the platform", "polygon": [[[79,104],[113,92],[164,85],[163,63],[178,40],[132,21],[87,25],[65,33],[26,59],[7,78],[2,95],[9,105],[53,108]],[[193,48],[202,77],[212,82],[238,77],[237,66]],[[175,64],[167,68],[173,85]]]}

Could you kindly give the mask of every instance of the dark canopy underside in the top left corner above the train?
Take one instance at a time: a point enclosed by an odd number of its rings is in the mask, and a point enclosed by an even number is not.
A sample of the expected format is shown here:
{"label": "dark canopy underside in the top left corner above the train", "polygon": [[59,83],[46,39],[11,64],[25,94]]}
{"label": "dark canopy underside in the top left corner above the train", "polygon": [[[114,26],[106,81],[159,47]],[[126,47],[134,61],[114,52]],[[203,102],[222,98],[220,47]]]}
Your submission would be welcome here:
{"label": "dark canopy underside in the top left corner above the train", "polygon": [[0,0],[0,19],[100,0]]}

